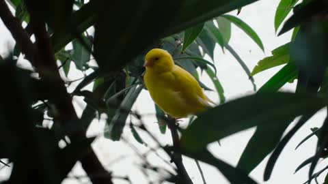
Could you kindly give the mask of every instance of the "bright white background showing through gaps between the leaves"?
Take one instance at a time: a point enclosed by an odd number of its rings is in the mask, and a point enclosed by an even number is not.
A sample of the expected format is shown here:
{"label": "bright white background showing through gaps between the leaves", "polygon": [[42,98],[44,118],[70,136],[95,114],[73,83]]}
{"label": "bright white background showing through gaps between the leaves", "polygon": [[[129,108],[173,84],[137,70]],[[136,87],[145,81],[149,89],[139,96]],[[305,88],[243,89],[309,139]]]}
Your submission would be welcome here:
{"label": "bright white background showing through gaps between the leaves", "polygon": [[[253,69],[256,63],[267,56],[271,55],[271,50],[277,48],[277,46],[281,46],[282,44],[286,44],[290,40],[291,33],[285,33],[277,37],[275,35],[273,20],[275,15],[275,9],[278,5],[278,0],[263,0],[253,3],[251,5],[247,5],[241,11],[241,14],[238,15],[239,18],[247,22],[255,31],[258,33],[262,42],[264,44],[265,52],[262,52],[260,48],[240,29],[232,26],[232,39],[230,41],[230,45],[238,52],[243,61],[247,64],[249,69]],[[236,11],[231,12],[230,14],[236,15]],[[0,55],[3,55],[6,52],[8,43],[12,44],[12,37],[10,33],[5,29],[2,22],[0,21]],[[251,82],[247,79],[247,75],[243,72],[241,66],[238,62],[230,55],[228,51],[223,55],[221,52],[221,48],[216,48],[215,50],[215,65],[217,67],[217,76],[223,85],[225,90],[225,95],[228,100],[234,99],[236,97],[241,97],[243,95],[254,93],[252,89]],[[71,66],[73,67],[73,64]],[[255,78],[255,82],[258,88],[260,88],[264,82],[266,82],[275,72],[277,72],[281,67],[276,67],[272,70],[267,70],[266,72],[262,72],[257,74]],[[72,71],[70,76],[68,77],[70,80],[79,78],[81,76],[80,72]],[[207,78],[206,74],[201,78],[202,82],[208,85],[210,88],[214,89],[212,83]],[[294,84],[285,85],[282,90],[295,90]],[[207,93],[211,99],[218,102],[217,93]],[[74,105],[77,107],[78,114],[81,114],[81,106],[84,106],[81,98],[74,98]],[[77,102],[78,101],[78,102]],[[154,117],[154,105],[152,99],[148,91],[142,91],[141,95],[139,95],[137,102],[134,107],[140,114],[148,114],[143,117],[143,121],[146,123],[147,127],[153,130],[153,133],[156,134],[163,144],[171,144],[172,140],[169,136],[169,132],[163,135],[159,133],[159,129],[156,125],[156,119]],[[310,127],[320,127],[324,119],[324,112],[320,112],[316,114],[308,123],[306,123],[300,130],[297,132],[296,136],[290,140],[290,142],[285,147],[284,151],[282,151],[282,155],[277,160],[277,164],[273,170],[273,174],[271,179],[266,183],[304,183],[308,178],[308,166],[297,172],[297,174],[293,174],[295,168],[299,166],[301,162],[303,162],[308,157],[314,154],[314,149],[316,145],[316,138],[311,138],[307,142],[303,144],[297,151],[295,151],[295,147],[297,144],[305,138],[308,134],[310,134]],[[219,119],[219,117],[218,117]],[[92,127],[88,132],[88,135],[101,134],[104,127],[104,121],[94,121],[92,123]],[[206,122],[204,122],[206,123]],[[182,123],[183,124],[183,123]],[[290,128],[290,127],[289,127]],[[139,131],[140,132],[140,131]],[[238,159],[245,148],[247,141],[251,137],[251,134],[254,132],[254,128],[248,129],[244,132],[234,134],[232,136],[228,136],[221,140],[221,147],[218,146],[217,143],[210,144],[210,151],[213,152],[217,157],[223,159],[224,161],[236,166]],[[141,132],[140,132],[141,133]],[[143,139],[146,140],[150,144],[150,146],[154,146],[154,144],[150,141],[149,138],[141,134]],[[131,134],[131,131],[128,127],[124,129],[124,138],[131,142],[139,149],[141,153],[145,153],[149,150],[148,147],[139,144],[136,142]],[[126,145],[124,142],[113,142],[111,140],[107,140],[100,136],[93,143],[94,150],[96,154],[100,158],[102,164],[108,168],[108,170],[113,171],[114,176],[126,176],[128,175],[133,183],[146,183],[146,180],[143,179],[143,174],[139,171],[137,166],[140,163],[139,157],[135,155],[135,152]],[[162,152],[159,153],[163,155]],[[165,154],[164,154],[165,155]],[[116,160],[122,156],[126,156],[120,162],[116,162]],[[167,157],[166,157],[167,158]],[[163,165],[156,155],[151,154],[149,159],[152,164]],[[168,160],[168,158],[167,158]],[[64,162],[64,161],[63,161]],[[115,163],[113,163],[115,162]],[[267,162],[267,159],[264,160],[253,172],[251,172],[251,177],[258,181],[258,183],[264,183],[263,171],[264,166]],[[200,173],[197,170],[195,162],[192,159],[184,158],[184,164],[187,167],[189,175],[193,179],[195,184],[202,183]],[[206,164],[201,164],[204,175],[206,177],[206,181],[208,184],[211,183],[228,183],[226,179],[221,175],[221,173],[213,168],[212,166],[208,166]],[[320,163],[318,168],[323,168],[323,166],[327,165],[327,162]],[[10,170],[4,169],[1,170],[0,176],[6,178],[5,175],[8,176]],[[83,176],[85,173],[81,170],[81,166],[78,163],[74,168],[73,173],[75,175]],[[323,181],[325,177],[324,172],[320,179],[320,182]],[[156,174],[150,174],[150,176],[156,178]],[[88,182],[87,179],[83,179],[82,181]],[[66,184],[72,183],[80,183],[75,179],[66,179],[64,181]],[[125,181],[115,180],[115,183],[126,183]]]}

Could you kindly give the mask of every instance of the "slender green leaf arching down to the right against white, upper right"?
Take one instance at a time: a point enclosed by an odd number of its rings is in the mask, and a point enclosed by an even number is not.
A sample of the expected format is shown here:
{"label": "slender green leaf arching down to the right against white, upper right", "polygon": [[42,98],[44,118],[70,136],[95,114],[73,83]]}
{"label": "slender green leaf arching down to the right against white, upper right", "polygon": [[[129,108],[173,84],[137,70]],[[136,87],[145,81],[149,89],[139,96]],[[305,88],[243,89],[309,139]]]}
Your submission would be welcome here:
{"label": "slender green leaf arching down to the right against white, upper right", "polygon": [[239,19],[236,16],[232,16],[232,15],[228,15],[228,14],[222,15],[221,17],[226,18],[227,20],[234,23],[234,25],[236,25],[237,27],[242,29],[264,51],[264,46],[262,44],[260,37],[258,37],[258,34],[256,34],[256,32],[253,29],[251,29],[251,27],[249,27],[249,25],[247,25],[245,22],[243,22],[243,20]]}

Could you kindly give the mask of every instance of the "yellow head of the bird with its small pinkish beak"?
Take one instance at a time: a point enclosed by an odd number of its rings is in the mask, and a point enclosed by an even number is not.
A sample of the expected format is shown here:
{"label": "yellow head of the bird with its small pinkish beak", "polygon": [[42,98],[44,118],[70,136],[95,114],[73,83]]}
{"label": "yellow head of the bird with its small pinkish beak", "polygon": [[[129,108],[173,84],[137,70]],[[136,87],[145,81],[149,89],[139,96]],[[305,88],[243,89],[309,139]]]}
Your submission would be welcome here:
{"label": "yellow head of the bird with its small pinkish beak", "polygon": [[153,48],[147,53],[143,66],[146,70],[156,73],[168,72],[174,67],[174,61],[172,55],[166,50]]}

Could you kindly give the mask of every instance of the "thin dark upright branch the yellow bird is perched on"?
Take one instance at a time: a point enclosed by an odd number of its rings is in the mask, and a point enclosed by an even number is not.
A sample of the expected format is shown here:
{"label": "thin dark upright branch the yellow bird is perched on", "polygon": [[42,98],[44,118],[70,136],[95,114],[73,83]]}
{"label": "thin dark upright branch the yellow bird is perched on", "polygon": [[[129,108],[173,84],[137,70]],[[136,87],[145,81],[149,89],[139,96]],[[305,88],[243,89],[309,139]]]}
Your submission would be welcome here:
{"label": "thin dark upright branch the yellow bird is perched on", "polygon": [[[178,131],[176,129],[176,120],[169,119],[167,122],[167,125],[169,126],[169,129],[171,130],[173,146],[175,148],[177,148],[177,147],[179,147],[178,144],[179,144],[180,138],[179,138]],[[174,162],[174,164],[176,164],[176,168],[178,169],[179,178],[183,179],[183,183],[192,184],[193,181],[191,181],[186,168],[184,168],[184,165],[182,162],[182,155],[180,153],[173,153],[171,158],[172,158],[172,161]]]}

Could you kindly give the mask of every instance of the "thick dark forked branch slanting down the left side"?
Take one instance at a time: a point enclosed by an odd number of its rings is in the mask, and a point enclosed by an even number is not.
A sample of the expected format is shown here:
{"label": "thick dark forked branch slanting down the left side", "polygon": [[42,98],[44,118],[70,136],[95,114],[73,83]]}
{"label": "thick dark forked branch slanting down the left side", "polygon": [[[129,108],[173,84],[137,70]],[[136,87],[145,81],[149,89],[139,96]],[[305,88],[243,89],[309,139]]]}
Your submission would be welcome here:
{"label": "thick dark forked branch slanting down the left side", "polygon": [[[32,63],[36,70],[40,73],[41,78],[49,79],[53,82],[53,89],[59,92],[57,99],[53,99],[53,103],[61,112],[61,121],[69,121],[71,119],[77,119],[77,114],[72,106],[72,99],[66,91],[64,82],[61,80],[59,71],[51,47],[51,42],[48,33],[46,32],[45,24],[38,20],[36,16],[33,16],[33,11],[29,11],[31,14],[31,23],[33,27],[33,33],[36,36],[36,44],[33,44],[29,39],[30,35],[20,25],[19,20],[12,15],[8,5],[4,0],[0,0],[0,18],[8,28],[16,44],[18,44],[20,50],[22,50],[25,57]],[[85,138],[85,132],[79,132],[74,138]],[[95,173],[106,174],[108,177],[102,179],[92,179],[95,184],[108,183],[111,184],[111,174],[105,170],[98,157],[91,149],[91,151],[81,159],[81,164],[85,172],[88,175]]]}

